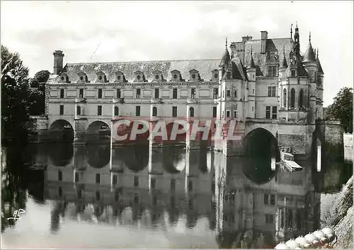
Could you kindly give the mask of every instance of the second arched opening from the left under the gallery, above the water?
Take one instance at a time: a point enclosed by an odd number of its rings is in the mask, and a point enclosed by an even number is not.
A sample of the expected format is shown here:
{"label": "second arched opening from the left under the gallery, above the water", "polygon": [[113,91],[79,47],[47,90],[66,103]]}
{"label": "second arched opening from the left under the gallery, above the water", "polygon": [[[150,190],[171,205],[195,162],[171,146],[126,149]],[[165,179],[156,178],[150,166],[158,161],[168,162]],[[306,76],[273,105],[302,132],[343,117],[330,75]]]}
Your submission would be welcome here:
{"label": "second arched opening from the left under the gallery, above the water", "polygon": [[110,127],[107,123],[97,120],[87,127],[86,138],[88,143],[109,143]]}

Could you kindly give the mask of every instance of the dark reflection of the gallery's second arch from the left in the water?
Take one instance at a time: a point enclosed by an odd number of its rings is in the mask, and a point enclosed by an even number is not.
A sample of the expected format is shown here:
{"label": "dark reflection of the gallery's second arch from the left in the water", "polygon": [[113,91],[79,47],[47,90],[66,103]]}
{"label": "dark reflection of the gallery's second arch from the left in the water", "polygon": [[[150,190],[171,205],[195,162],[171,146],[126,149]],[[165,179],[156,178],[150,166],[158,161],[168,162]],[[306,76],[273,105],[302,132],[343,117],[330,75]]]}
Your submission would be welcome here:
{"label": "dark reflection of the gallery's second arch from the left in the water", "polygon": [[89,144],[86,147],[86,157],[90,166],[101,169],[109,164],[110,145]]}

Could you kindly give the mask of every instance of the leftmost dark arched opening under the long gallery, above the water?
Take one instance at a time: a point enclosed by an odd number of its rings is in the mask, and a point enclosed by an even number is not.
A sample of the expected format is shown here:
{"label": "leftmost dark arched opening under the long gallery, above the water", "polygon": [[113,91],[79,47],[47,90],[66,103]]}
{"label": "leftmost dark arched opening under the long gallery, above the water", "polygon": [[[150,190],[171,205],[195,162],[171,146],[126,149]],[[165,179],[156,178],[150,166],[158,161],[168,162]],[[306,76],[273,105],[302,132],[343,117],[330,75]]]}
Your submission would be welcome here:
{"label": "leftmost dark arched opening under the long gallery, above the water", "polygon": [[49,129],[51,142],[74,142],[74,129],[67,120],[56,120]]}

